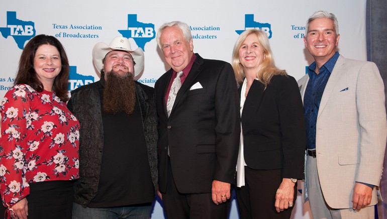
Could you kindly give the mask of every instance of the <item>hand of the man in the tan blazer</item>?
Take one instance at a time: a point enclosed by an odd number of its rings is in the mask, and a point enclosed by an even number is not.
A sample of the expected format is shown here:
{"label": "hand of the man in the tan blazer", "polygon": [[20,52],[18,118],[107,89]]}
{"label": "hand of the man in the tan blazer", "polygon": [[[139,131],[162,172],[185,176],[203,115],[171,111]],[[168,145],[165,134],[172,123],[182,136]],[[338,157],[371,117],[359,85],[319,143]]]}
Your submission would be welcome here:
{"label": "hand of the man in the tan blazer", "polygon": [[352,209],[360,211],[361,208],[366,207],[371,203],[371,198],[372,188],[362,183],[356,182],[355,186],[353,187]]}

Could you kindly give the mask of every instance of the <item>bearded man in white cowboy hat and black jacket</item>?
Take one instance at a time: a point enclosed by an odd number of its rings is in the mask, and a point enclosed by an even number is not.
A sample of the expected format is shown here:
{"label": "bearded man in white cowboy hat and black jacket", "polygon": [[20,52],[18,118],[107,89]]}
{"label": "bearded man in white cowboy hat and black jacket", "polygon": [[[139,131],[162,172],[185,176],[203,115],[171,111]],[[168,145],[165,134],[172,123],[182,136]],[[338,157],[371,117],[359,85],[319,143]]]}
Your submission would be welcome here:
{"label": "bearded man in white cowboy hat and black jacket", "polygon": [[71,92],[81,125],[80,178],[72,218],[149,218],[157,188],[157,123],[152,87],[134,81],[144,52],[116,37],[92,51],[101,80]]}

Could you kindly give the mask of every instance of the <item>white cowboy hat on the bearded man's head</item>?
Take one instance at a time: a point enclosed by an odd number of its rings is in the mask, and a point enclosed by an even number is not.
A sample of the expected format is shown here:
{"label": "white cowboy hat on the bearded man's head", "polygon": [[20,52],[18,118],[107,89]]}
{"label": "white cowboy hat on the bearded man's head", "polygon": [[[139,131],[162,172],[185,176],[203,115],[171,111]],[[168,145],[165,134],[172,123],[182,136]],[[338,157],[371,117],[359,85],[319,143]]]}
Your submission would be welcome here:
{"label": "white cowboy hat on the bearded man's head", "polygon": [[144,68],[144,52],[140,47],[132,50],[128,38],[125,37],[115,37],[109,45],[104,42],[95,44],[92,49],[92,60],[99,71],[104,67],[102,59],[113,50],[128,51],[136,62],[136,65],[134,65],[134,76],[141,73]]}

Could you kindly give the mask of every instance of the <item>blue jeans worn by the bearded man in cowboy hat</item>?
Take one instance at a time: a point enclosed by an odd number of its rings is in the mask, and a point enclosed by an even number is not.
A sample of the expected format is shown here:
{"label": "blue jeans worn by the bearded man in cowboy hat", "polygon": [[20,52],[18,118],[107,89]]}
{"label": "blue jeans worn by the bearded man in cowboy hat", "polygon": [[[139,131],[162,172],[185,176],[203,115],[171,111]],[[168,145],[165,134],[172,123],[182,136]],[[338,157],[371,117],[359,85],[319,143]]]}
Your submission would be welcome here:
{"label": "blue jeans worn by the bearded man in cowboy hat", "polygon": [[149,219],[152,205],[133,206],[133,207],[82,207],[82,205],[73,202],[73,219]]}

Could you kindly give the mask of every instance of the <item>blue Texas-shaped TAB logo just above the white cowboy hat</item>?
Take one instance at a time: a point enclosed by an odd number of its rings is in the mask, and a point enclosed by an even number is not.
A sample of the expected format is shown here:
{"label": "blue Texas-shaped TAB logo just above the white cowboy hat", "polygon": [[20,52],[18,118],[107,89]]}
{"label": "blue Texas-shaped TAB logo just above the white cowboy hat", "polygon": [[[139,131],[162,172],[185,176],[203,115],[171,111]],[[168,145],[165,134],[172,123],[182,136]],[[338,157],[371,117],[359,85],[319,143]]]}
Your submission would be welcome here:
{"label": "blue Texas-shaped TAB logo just above the white cowboy hat", "polygon": [[155,38],[154,24],[137,21],[137,15],[128,15],[128,27],[126,30],[118,30],[126,38],[133,38],[137,46],[145,51],[145,44]]}

